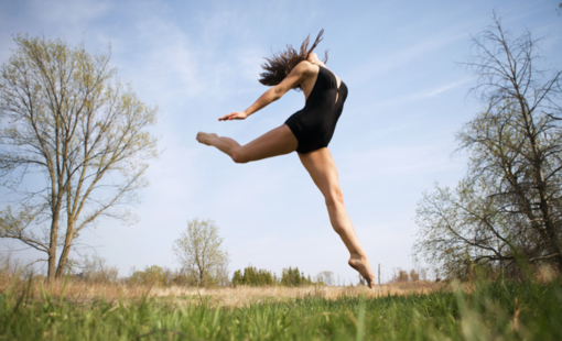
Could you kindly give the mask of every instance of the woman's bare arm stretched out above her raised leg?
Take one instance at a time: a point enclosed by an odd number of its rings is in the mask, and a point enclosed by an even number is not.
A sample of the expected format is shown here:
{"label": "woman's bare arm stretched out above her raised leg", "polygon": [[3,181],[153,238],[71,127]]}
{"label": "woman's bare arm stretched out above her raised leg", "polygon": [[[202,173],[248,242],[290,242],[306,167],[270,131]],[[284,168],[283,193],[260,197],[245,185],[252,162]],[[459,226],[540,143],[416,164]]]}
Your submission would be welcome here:
{"label": "woman's bare arm stretched out above her raised leg", "polygon": [[227,121],[227,120],[244,120],[250,114],[255,113],[256,111],[259,111],[270,105],[271,102],[277,101],[283,95],[287,94],[287,91],[291,90],[292,88],[300,85],[306,77],[310,76],[310,67],[312,64],[309,62],[301,62],[299,65],[296,65],[289,76],[283,79],[280,84],[277,86],[270,88],[263,95],[258,98],[258,100],[251,105],[248,109],[245,111],[235,111],[230,112],[229,114],[225,114],[224,117],[219,118],[219,121]]}

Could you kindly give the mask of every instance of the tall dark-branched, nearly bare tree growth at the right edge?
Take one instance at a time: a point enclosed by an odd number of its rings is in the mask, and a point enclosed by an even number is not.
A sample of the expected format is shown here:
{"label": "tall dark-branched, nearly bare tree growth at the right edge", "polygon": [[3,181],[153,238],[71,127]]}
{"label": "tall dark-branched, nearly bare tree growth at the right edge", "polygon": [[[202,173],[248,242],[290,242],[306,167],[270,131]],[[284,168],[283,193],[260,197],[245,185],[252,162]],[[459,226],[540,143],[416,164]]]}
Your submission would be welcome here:
{"label": "tall dark-branched, nearly bare tree growth at the right edge", "polygon": [[514,37],[493,19],[466,63],[485,103],[456,135],[467,175],[418,206],[415,252],[442,275],[465,276],[474,263],[514,270],[518,258],[562,270],[562,72],[540,67],[529,31]]}

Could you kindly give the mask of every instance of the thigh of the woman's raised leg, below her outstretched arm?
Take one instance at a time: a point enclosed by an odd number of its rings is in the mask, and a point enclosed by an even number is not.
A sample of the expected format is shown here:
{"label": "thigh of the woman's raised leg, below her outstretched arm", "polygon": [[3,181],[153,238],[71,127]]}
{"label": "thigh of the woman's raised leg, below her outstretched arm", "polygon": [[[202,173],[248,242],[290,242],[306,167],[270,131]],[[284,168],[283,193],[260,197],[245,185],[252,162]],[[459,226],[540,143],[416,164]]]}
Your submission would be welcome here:
{"label": "thigh of the woman's raised leg, below her outstretched arm", "polygon": [[239,148],[244,162],[284,155],[296,151],[299,141],[287,124],[278,127]]}

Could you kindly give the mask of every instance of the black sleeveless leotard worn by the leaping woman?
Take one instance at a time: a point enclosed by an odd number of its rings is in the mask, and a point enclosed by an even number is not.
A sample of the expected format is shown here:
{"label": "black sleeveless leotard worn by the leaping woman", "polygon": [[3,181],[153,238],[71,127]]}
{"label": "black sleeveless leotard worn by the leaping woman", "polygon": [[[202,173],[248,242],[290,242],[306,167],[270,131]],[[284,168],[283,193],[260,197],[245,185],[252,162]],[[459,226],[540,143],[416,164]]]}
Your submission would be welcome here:
{"label": "black sleeveless leotard worn by the leaping woman", "polygon": [[342,81],[338,89],[336,76],[320,66],[318,77],[304,108],[285,121],[299,141],[296,152],[310,153],[328,145],[346,98],[346,85]]}

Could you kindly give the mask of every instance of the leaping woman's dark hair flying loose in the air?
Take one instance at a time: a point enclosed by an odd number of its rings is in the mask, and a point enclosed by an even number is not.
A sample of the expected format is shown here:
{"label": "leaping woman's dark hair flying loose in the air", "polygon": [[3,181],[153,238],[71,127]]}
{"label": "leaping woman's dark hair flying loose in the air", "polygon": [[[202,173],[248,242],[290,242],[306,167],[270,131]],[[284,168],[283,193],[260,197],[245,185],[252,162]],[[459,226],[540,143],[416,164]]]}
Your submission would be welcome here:
{"label": "leaping woman's dark hair flying loose in the air", "polygon": [[[261,65],[261,68],[264,69],[263,73],[260,74],[259,81],[264,86],[275,86],[280,84],[283,79],[285,79],[287,75],[291,73],[291,70],[302,61],[307,61],[311,53],[316,48],[316,46],[322,42],[324,34],[324,30],[320,31],[318,36],[312,44],[309,50],[310,44],[310,34],[306,36],[304,42],[301,45],[301,51],[296,52],[291,45],[287,45],[287,51],[282,51],[278,54],[273,54],[271,58],[264,57],[267,61],[266,64]],[[327,62],[327,51],[324,52],[324,63]],[[294,87],[294,89],[301,89],[301,85]]]}

